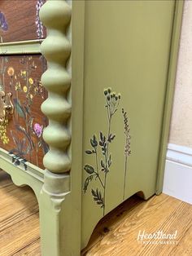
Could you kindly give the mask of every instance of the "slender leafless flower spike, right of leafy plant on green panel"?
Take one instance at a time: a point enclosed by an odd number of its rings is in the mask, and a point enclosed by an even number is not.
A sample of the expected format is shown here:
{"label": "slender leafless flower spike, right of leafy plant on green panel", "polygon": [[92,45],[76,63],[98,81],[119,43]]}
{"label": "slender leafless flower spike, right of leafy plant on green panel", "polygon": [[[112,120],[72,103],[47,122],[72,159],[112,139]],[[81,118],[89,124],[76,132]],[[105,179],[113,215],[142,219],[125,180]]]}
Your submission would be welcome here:
{"label": "slender leafless flower spike, right of leafy plant on green panel", "polygon": [[[128,169],[128,157],[131,155],[131,135],[130,135],[130,127],[129,127],[129,119],[127,112],[122,108],[122,114],[124,117],[124,191],[126,186],[126,178],[127,178],[127,169]],[[123,195],[124,199],[124,195]]]}

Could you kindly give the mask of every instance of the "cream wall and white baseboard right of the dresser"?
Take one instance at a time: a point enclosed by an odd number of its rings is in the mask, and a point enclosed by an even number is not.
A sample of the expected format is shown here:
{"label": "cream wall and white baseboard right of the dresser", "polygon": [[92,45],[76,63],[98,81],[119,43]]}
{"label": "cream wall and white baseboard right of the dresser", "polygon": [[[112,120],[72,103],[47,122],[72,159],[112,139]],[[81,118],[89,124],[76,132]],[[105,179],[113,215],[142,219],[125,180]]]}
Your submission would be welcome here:
{"label": "cream wall and white baseboard right of the dresser", "polygon": [[184,5],[163,192],[192,204],[191,0]]}

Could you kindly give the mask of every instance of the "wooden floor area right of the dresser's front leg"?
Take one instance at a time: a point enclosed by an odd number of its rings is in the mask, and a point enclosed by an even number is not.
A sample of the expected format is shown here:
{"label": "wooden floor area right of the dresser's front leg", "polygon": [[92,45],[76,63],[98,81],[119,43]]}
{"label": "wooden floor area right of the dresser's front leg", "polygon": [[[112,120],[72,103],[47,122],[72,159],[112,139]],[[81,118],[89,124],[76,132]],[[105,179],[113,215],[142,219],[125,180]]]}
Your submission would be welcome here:
{"label": "wooden floor area right of the dresser's front leg", "polygon": [[[129,205],[130,204],[130,205]],[[131,205],[133,204],[133,207]],[[177,229],[177,245],[143,245],[139,230],[147,233]],[[148,201],[133,196],[98,223],[82,256],[192,255],[192,205],[161,194]],[[185,233],[189,236],[186,236]],[[181,252],[185,251],[185,254]]]}

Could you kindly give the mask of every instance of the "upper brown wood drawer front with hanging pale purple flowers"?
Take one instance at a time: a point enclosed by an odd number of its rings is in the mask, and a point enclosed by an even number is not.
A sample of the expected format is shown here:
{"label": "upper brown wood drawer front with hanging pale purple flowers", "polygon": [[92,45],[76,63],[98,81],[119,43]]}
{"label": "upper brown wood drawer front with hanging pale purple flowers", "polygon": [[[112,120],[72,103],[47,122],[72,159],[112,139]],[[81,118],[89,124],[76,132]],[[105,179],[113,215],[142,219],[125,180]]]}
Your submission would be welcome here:
{"label": "upper brown wood drawer front with hanging pale purple flowers", "polygon": [[46,0],[1,0],[0,40],[16,42],[45,38],[39,10]]}

